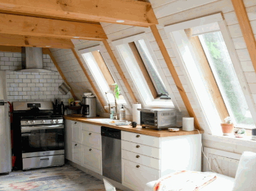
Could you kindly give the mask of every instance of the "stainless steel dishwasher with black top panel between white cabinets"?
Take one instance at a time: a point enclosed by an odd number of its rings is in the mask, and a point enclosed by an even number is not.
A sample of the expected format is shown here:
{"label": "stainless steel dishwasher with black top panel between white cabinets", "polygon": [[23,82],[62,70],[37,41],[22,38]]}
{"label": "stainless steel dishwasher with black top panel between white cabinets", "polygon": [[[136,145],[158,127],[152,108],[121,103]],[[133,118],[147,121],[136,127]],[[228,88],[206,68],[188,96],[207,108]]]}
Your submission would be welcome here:
{"label": "stainless steel dishwasher with black top panel between white cabinets", "polygon": [[121,131],[105,126],[102,135],[102,175],[122,183]]}

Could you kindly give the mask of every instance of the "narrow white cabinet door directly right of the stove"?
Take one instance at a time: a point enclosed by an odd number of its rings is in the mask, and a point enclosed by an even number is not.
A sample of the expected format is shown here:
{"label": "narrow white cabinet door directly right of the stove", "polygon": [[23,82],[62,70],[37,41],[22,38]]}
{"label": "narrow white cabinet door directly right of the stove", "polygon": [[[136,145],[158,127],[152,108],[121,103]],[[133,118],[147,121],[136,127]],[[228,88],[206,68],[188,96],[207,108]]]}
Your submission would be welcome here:
{"label": "narrow white cabinet door directly right of the stove", "polygon": [[65,158],[72,161],[72,121],[65,120]]}

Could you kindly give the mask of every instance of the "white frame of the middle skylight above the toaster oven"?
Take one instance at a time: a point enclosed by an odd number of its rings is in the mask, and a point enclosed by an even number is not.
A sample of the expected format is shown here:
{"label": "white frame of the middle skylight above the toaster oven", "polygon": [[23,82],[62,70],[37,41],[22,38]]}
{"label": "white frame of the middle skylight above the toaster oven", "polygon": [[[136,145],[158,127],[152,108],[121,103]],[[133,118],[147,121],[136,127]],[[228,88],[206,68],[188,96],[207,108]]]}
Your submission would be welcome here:
{"label": "white frame of the middle skylight above the toaster oven", "polygon": [[[120,62],[122,63],[122,65],[125,66],[125,69],[129,73],[129,76],[132,76],[131,71],[129,71],[129,68],[127,67],[127,64],[124,61],[122,53],[120,53],[120,50],[117,46],[122,45],[122,44],[123,45],[129,44],[134,41],[139,41],[141,39],[143,39],[144,42],[146,43],[147,49],[148,49],[149,53],[151,54],[154,64],[156,65],[157,71],[160,74],[164,85],[167,85],[166,89],[169,93],[169,96],[171,97],[171,100],[168,100],[168,101],[159,100],[159,98],[154,98],[152,96],[151,91],[149,90],[149,87],[147,86],[146,80],[145,80],[139,66],[136,65],[136,69],[139,73],[139,76],[143,76],[140,80],[143,83],[144,90],[146,90],[146,95],[145,95],[145,93],[143,94],[141,91],[142,89],[138,87],[138,84],[140,83],[139,80],[137,79],[137,81],[136,81],[134,78],[131,78],[131,79],[136,87],[137,92],[139,92],[140,99],[142,100],[142,106],[147,107],[147,108],[161,106],[161,107],[167,107],[167,108],[176,108],[179,111],[181,111],[181,109],[179,108],[178,103],[176,101],[176,98],[174,97],[173,91],[171,90],[171,88],[169,86],[168,80],[167,80],[166,76],[164,75],[163,69],[161,68],[161,65],[159,64],[159,62],[156,58],[156,54],[154,53],[154,51],[151,47],[151,44],[149,43],[149,40],[147,39],[146,33],[136,34],[134,36],[129,36],[127,38],[122,38],[122,39],[112,41],[112,44],[113,44],[117,54],[119,54]],[[134,54],[133,54],[133,56],[134,56]],[[132,59],[134,59],[134,61],[136,63],[136,59],[135,58],[132,58]],[[168,105],[166,105],[166,103],[168,103]]]}

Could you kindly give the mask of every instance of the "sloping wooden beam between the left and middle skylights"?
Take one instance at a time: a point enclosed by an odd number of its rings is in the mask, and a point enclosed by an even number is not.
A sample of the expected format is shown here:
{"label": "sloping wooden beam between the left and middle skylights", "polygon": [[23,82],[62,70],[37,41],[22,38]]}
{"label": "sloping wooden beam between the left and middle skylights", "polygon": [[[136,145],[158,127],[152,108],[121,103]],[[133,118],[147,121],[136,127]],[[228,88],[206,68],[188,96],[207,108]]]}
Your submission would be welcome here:
{"label": "sloping wooden beam between the left and middle skylights", "polygon": [[104,43],[105,48],[107,49],[107,52],[109,53],[109,56],[110,56],[110,58],[112,59],[114,65],[115,65],[115,68],[117,68],[117,71],[118,71],[119,75],[121,76],[122,81],[124,82],[124,85],[125,85],[125,87],[126,87],[128,93],[129,93],[129,95],[130,95],[131,98],[132,98],[132,101],[133,101],[134,103],[137,103],[138,101],[137,101],[137,99],[136,99],[136,96],[134,95],[131,86],[129,85],[127,79],[125,78],[124,73],[123,73],[123,71],[122,71],[122,68],[120,67],[120,65],[119,65],[119,63],[118,63],[118,61],[117,61],[117,59],[115,58],[115,55],[114,55],[112,49],[110,48],[109,43],[107,42],[106,39],[102,40],[102,42]]}

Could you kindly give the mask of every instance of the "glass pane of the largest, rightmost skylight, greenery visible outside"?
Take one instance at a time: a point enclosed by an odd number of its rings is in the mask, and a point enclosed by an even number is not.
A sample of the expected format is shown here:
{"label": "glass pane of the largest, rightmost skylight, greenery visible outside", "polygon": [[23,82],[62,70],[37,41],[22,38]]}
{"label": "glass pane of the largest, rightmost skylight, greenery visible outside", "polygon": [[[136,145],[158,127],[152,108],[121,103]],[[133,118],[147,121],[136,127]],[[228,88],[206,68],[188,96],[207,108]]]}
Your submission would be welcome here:
{"label": "glass pane of the largest, rightmost skylight, greenery visible outside", "polygon": [[221,32],[198,36],[228,113],[237,126],[255,127]]}

